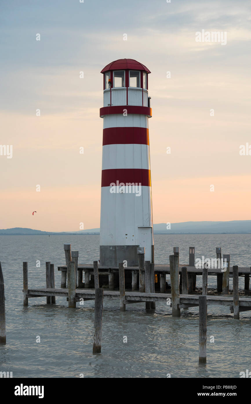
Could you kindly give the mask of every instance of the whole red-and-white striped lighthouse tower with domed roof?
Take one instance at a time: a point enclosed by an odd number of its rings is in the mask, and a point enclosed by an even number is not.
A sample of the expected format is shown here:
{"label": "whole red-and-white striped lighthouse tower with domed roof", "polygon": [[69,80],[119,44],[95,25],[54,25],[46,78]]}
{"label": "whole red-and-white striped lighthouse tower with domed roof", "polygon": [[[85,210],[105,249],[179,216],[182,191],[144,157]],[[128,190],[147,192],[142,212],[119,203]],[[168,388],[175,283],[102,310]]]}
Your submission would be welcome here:
{"label": "whole red-and-white striped lighthouse tower with domed roof", "polygon": [[138,265],[137,248],[154,262],[148,118],[148,74],[142,63],[119,59],[104,74],[100,265]]}

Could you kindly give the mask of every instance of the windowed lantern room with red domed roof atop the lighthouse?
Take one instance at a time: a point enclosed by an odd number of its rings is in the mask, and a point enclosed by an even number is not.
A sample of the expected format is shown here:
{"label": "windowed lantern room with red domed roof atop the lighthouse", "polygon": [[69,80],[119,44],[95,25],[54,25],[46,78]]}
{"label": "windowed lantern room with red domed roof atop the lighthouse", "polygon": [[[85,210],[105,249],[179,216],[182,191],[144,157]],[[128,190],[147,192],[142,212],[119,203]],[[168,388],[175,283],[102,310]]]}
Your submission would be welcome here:
{"label": "windowed lantern room with red domed roof atop the lighthouse", "polygon": [[134,59],[118,59],[109,63],[104,74],[104,107],[139,105],[150,107],[147,67]]}

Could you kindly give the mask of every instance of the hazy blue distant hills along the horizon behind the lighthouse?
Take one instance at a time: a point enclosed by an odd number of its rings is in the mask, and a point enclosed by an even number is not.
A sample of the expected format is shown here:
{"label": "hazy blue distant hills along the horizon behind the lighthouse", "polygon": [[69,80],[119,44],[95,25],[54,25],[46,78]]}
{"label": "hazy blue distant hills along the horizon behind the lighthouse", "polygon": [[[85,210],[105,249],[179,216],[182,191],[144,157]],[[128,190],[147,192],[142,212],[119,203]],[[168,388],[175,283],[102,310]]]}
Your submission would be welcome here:
{"label": "hazy blue distant hills along the horizon behind the lighthouse", "polygon": [[[86,229],[79,231],[41,231],[14,227],[12,229],[0,229],[0,236],[32,236],[32,235],[91,235],[100,234],[100,229]],[[181,222],[171,223],[170,229],[166,229],[166,223],[154,225],[154,234],[251,234],[251,220],[232,220],[227,222]]]}

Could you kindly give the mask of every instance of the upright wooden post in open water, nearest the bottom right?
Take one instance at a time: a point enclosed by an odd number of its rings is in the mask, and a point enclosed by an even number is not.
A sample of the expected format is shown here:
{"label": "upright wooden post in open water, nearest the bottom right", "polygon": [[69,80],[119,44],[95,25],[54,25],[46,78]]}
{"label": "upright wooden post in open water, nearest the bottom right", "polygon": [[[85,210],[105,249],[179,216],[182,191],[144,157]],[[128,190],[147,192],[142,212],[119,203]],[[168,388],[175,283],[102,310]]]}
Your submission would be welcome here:
{"label": "upright wooden post in open water, nearest the bottom right", "polygon": [[207,297],[199,296],[199,362],[207,362]]}

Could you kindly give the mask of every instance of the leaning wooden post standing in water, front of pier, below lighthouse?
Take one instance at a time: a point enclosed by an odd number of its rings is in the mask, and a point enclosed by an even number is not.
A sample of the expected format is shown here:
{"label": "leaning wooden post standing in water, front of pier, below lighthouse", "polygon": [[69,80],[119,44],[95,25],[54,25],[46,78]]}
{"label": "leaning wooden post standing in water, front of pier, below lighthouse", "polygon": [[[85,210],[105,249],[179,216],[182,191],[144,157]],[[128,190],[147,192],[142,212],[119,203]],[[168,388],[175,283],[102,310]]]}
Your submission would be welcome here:
{"label": "leaning wooden post standing in water, front of pier, below lighthouse", "polygon": [[102,338],[102,316],[103,316],[103,299],[104,289],[95,289],[95,308],[94,308],[94,337],[92,353],[101,352],[101,338]]}

